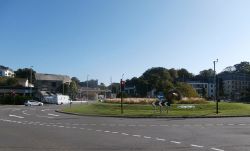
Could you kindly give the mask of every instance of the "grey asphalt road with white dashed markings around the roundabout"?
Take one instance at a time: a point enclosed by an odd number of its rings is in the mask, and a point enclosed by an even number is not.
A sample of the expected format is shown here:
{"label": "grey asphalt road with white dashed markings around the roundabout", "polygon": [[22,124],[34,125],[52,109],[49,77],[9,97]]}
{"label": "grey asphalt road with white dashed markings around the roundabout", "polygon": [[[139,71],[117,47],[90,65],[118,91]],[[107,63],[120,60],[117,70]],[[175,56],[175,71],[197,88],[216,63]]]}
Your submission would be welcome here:
{"label": "grey asphalt road with white dashed markings around the roundabout", "polygon": [[250,118],[82,117],[0,106],[0,151],[250,151]]}

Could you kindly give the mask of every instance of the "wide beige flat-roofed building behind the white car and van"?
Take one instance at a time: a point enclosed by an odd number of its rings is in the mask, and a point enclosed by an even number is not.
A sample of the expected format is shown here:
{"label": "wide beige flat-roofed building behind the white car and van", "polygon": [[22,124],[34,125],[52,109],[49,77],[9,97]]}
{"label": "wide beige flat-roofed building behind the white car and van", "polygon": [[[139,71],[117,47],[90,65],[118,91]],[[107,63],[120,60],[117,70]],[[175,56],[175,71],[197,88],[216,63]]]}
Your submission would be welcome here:
{"label": "wide beige flat-roofed building behind the white car and van", "polygon": [[[71,82],[71,78],[66,75],[36,73],[35,78],[35,87],[38,91],[48,91],[52,93],[59,93],[63,84],[69,86]],[[62,87],[62,89],[64,90],[64,87]]]}

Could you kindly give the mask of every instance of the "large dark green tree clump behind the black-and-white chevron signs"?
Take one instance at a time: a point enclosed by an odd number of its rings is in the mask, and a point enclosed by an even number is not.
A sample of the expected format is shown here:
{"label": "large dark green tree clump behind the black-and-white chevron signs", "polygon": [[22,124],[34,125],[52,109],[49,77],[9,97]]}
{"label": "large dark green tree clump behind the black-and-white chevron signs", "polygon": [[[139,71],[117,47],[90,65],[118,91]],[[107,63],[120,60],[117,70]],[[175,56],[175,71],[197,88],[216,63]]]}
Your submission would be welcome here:
{"label": "large dark green tree clump behind the black-and-white chevron signs", "polygon": [[[177,82],[179,78],[187,79],[193,77],[186,69],[175,70],[163,67],[151,68],[145,71],[141,77],[126,81],[126,86],[136,87],[137,94],[134,97],[146,97],[147,92],[163,92],[165,95],[171,89],[178,89],[184,96],[196,97],[198,94],[188,84]],[[180,81],[180,80],[179,80]]]}

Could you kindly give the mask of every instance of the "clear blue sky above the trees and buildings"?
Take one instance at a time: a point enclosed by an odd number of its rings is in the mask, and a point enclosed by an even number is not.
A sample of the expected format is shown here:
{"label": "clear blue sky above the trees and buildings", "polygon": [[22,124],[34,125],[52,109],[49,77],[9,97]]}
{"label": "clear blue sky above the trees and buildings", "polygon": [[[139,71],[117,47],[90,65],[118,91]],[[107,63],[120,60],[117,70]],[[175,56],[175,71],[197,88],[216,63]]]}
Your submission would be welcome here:
{"label": "clear blue sky above the trees and buildings", "polygon": [[250,61],[249,0],[0,0],[0,65],[109,85]]}

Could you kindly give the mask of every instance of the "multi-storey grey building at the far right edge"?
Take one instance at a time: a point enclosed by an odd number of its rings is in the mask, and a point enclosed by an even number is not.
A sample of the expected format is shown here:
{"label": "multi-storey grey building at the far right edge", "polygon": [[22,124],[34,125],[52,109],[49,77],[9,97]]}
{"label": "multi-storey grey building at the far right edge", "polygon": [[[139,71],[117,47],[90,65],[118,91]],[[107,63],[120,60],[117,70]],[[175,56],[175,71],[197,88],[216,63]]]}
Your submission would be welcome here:
{"label": "multi-storey grey building at the far right edge", "polygon": [[221,73],[218,75],[221,80],[220,87],[223,88],[224,96],[232,100],[242,100],[250,88],[250,75],[243,73]]}

